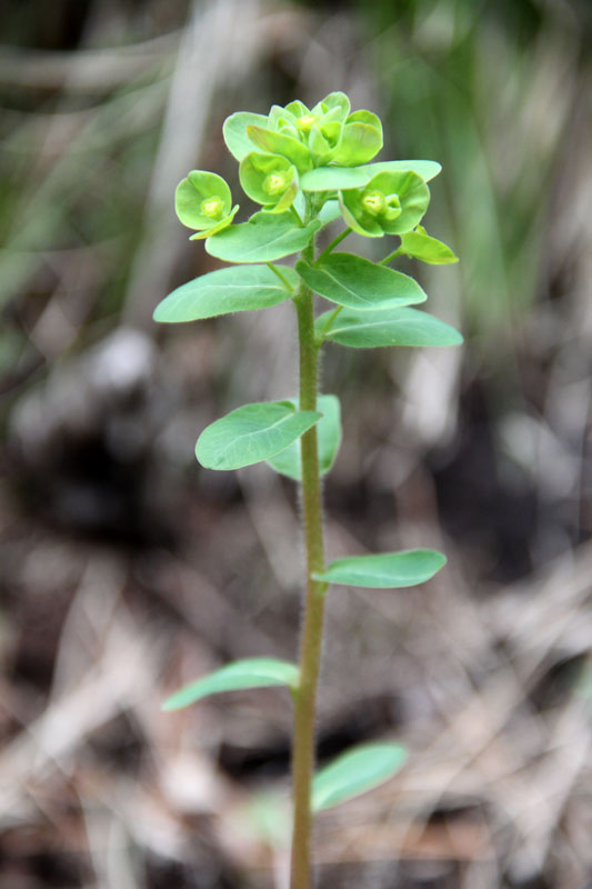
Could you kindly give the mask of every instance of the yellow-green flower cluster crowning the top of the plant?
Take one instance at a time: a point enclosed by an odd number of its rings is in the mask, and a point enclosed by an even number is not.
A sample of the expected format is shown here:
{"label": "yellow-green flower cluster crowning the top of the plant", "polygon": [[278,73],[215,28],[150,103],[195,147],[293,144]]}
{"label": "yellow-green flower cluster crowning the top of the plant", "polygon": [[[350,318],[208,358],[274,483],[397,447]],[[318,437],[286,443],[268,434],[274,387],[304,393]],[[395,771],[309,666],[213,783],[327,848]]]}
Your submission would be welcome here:
{"label": "yellow-green flower cluster crowning the top of the plant", "polygon": [[[372,163],[382,148],[381,121],[371,111],[352,112],[345,93],[331,92],[310,109],[295,100],[284,108],[272,106],[269,114],[239,111],[227,118],[223,132],[240,162],[244,193],[282,223],[302,224],[308,194],[317,211],[330,202],[328,218],[341,213],[358,234],[403,238],[411,232],[400,253],[427,262],[453,261],[451,251],[442,252],[445,246],[437,247],[440,242],[418,230],[430,202],[425,181],[439,164]],[[180,182],[175,207],[181,222],[197,232],[192,239],[218,234],[239,209],[232,207],[224,180],[200,170]]]}

